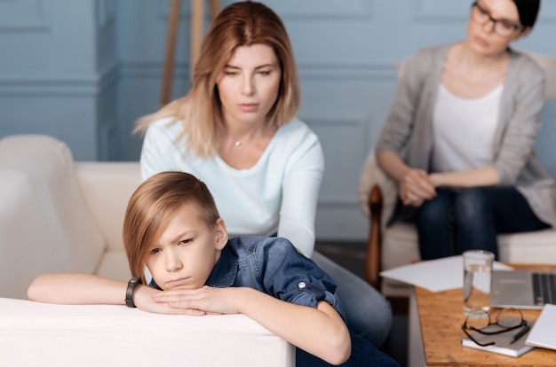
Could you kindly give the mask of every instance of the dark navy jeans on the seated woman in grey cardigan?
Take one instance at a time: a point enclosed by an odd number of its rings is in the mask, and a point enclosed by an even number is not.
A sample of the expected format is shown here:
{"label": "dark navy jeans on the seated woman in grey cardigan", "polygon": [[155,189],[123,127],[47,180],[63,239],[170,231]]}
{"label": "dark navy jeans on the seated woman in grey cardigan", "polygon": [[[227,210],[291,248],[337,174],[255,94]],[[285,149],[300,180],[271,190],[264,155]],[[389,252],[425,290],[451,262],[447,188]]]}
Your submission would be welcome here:
{"label": "dark navy jeans on the seated woman in grey cardigan", "polygon": [[498,259],[496,235],[544,230],[550,226],[533,213],[512,186],[437,189],[434,199],[417,208],[419,250],[423,260],[482,249]]}

